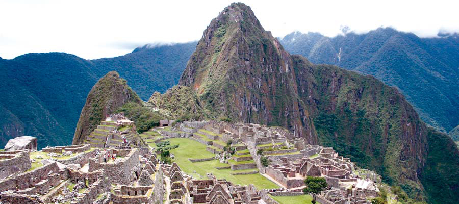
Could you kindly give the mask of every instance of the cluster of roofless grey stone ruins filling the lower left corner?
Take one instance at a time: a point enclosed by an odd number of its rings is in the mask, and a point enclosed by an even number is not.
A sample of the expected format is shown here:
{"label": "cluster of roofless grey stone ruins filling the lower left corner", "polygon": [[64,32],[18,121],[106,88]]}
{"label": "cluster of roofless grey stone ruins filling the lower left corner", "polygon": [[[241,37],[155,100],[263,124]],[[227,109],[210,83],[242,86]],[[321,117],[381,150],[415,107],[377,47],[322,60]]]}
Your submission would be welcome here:
{"label": "cluster of roofless grey stone ruins filling the lower left corner", "polygon": [[[32,163],[38,163],[34,160],[46,154],[56,157],[33,168]],[[104,162],[104,154],[118,159]],[[140,204],[162,202],[164,197],[163,169],[149,148],[82,144],[1,151],[0,176],[3,204]]]}

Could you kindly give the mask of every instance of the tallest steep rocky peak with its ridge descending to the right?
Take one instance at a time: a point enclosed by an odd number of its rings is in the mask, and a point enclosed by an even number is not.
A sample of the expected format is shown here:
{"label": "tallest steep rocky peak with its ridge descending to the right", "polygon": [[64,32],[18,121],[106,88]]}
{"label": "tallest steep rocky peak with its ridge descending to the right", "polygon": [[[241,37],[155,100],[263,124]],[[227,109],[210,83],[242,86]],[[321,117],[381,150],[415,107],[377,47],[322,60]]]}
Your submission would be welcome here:
{"label": "tallest steep rocky peak with its ridge descending to the right", "polygon": [[244,4],[211,21],[179,85],[216,117],[287,127],[386,181],[422,190],[427,130],[403,95],[373,77],[289,55]]}

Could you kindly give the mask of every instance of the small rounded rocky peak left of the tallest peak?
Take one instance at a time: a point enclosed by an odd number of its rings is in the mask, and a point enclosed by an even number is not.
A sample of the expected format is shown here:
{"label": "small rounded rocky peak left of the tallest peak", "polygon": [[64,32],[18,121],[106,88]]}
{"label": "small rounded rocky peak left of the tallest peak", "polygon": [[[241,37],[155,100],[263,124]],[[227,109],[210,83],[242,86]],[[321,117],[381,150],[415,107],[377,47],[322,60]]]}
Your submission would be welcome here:
{"label": "small rounded rocky peak left of the tallest peak", "polygon": [[141,104],[139,96],[116,71],[107,73],[91,89],[81,111],[72,144],[81,144],[106,115],[125,103]]}

